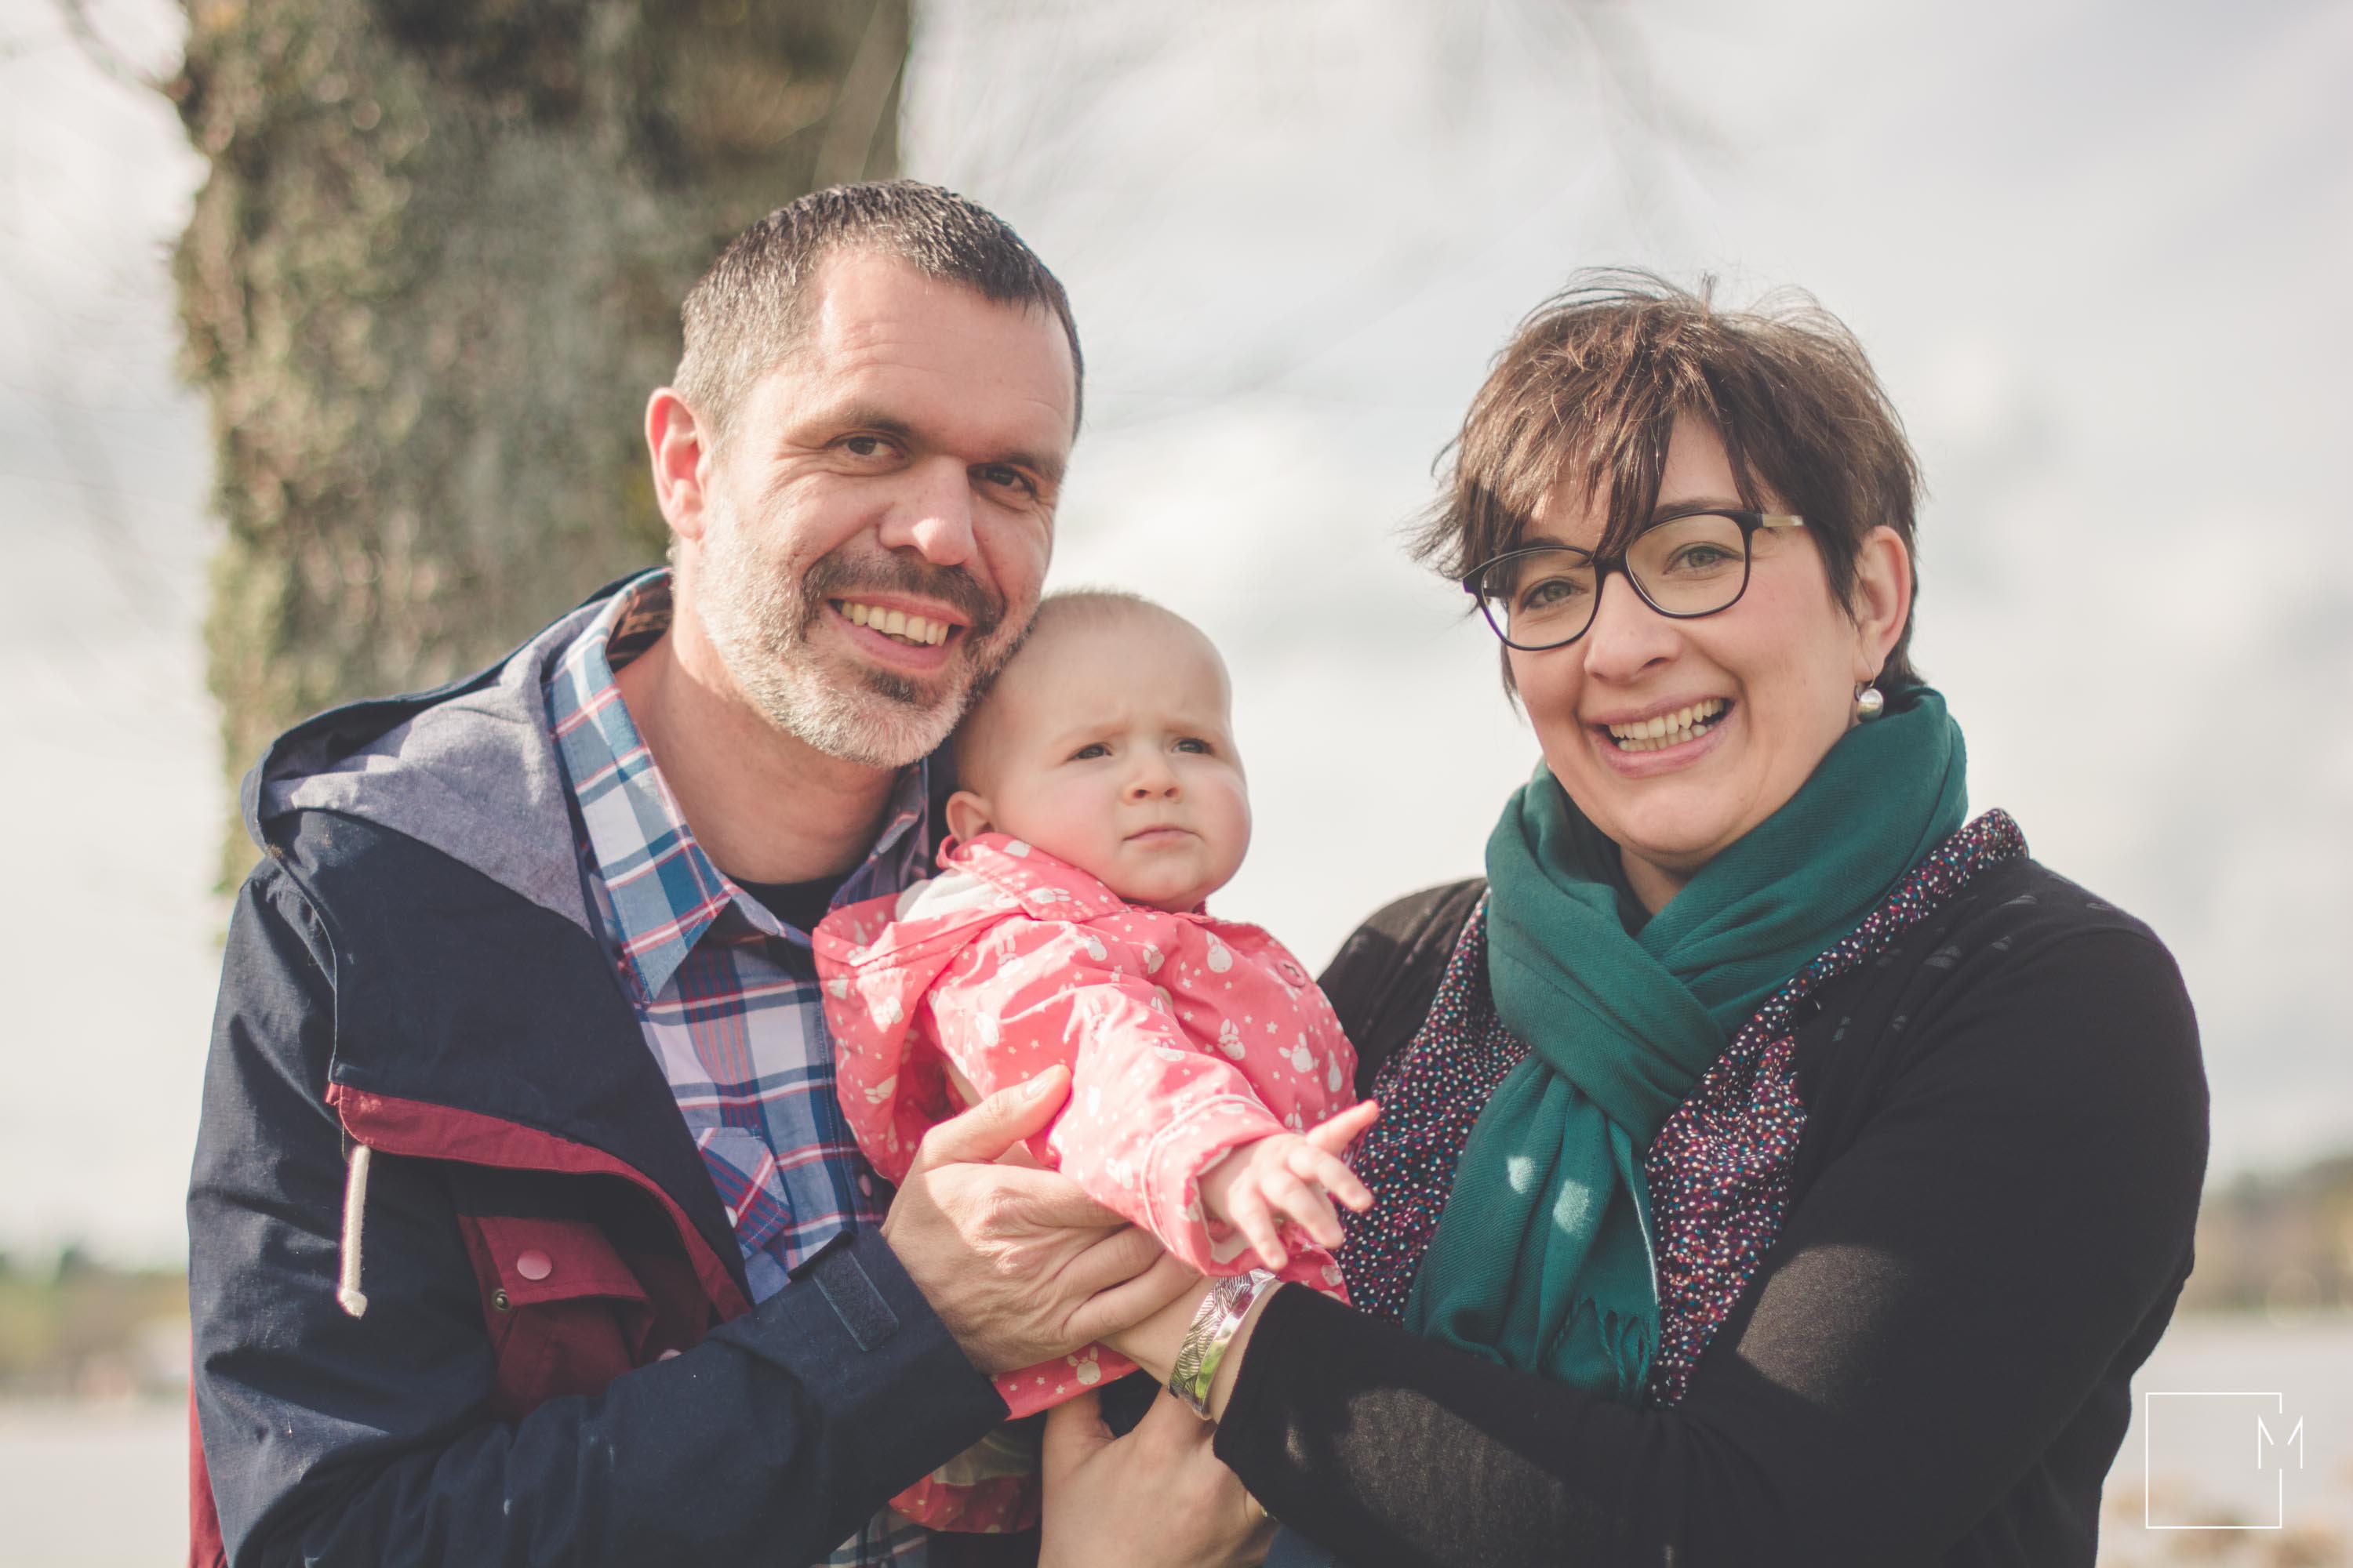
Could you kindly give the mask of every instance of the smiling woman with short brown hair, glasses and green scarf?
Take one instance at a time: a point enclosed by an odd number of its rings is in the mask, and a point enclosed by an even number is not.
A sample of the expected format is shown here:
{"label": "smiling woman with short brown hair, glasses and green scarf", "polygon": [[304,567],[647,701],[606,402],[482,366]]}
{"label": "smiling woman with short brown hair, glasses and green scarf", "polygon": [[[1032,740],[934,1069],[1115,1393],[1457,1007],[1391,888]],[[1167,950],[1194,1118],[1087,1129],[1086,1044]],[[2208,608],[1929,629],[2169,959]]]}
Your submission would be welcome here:
{"label": "smiling woman with short brown hair, glasses and green scarf", "polygon": [[[1184,1359],[1214,1455],[1353,1568],[2089,1563],[2191,1267],[2195,1020],[2146,926],[1965,813],[1861,348],[1602,277],[1452,468],[1424,552],[1544,764],[1485,884],[1325,976],[1384,1105],[1355,1307],[1226,1286],[1118,1347]],[[1059,1448],[1049,1563],[1202,1549],[1141,1446]]]}

